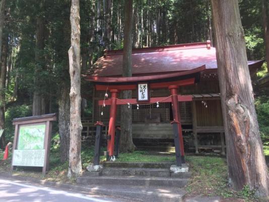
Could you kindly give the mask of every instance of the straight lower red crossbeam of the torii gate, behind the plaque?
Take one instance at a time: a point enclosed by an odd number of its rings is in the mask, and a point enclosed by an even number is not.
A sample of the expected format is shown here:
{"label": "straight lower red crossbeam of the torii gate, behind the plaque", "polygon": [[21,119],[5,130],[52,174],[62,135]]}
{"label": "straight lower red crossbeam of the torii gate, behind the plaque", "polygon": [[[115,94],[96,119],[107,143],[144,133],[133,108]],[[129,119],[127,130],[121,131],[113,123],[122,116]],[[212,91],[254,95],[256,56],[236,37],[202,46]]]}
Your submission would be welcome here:
{"label": "straight lower red crossbeam of the torii gate, behind the plaque", "polygon": [[[179,102],[187,102],[187,101],[192,101],[192,96],[191,95],[177,95],[177,99]],[[103,105],[103,100],[98,101],[98,105],[102,106]],[[148,103],[156,103],[156,102],[172,102],[171,97],[156,97],[156,98],[150,98],[149,102],[138,102],[137,99],[121,99],[117,100],[117,105],[123,105],[126,103],[130,104],[148,104]],[[111,99],[105,100],[105,105],[111,105]]]}

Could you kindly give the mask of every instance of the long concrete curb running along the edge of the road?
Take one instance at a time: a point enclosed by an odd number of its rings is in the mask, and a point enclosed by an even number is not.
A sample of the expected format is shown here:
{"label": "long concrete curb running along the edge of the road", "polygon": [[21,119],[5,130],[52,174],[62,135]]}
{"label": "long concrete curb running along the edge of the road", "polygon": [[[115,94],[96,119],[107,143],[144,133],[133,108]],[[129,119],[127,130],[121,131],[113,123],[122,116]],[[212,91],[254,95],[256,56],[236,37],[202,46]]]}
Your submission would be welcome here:
{"label": "long concrete curb running along the edge of the road", "polygon": [[106,196],[114,196],[122,199],[131,199],[132,201],[143,201],[143,202],[183,202],[186,197],[186,192],[181,191],[177,194],[164,194],[152,191],[142,191],[142,190],[126,190],[122,189],[108,189],[105,187],[98,187],[97,189],[94,187],[86,187],[86,186],[78,186],[74,184],[66,184],[60,182],[52,182],[46,180],[40,180],[36,178],[30,177],[22,177],[18,175],[13,175],[11,173],[0,173],[0,177],[33,182],[40,185],[45,185],[49,187],[63,188],[63,189],[71,189],[76,191],[87,192],[88,194],[100,194]]}

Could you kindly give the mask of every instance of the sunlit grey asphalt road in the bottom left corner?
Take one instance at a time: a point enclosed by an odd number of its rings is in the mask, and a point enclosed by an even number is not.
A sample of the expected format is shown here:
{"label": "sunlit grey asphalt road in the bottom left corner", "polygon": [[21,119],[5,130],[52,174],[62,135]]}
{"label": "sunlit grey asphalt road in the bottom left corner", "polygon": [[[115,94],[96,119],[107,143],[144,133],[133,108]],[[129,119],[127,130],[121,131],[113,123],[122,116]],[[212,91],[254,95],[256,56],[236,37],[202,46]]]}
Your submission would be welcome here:
{"label": "sunlit grey asphalt road in the bottom left corner", "polygon": [[22,181],[0,178],[0,201],[2,202],[124,202],[102,196],[49,188]]}

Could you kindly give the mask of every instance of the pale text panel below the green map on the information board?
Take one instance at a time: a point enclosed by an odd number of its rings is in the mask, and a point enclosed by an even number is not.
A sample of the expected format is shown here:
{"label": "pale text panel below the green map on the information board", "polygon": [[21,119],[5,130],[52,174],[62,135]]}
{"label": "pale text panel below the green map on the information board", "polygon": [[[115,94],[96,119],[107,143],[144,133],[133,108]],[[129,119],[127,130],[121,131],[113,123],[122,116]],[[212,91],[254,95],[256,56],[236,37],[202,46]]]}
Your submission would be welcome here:
{"label": "pale text panel below the green map on the information board", "polygon": [[14,150],[13,166],[37,166],[43,167],[45,150]]}

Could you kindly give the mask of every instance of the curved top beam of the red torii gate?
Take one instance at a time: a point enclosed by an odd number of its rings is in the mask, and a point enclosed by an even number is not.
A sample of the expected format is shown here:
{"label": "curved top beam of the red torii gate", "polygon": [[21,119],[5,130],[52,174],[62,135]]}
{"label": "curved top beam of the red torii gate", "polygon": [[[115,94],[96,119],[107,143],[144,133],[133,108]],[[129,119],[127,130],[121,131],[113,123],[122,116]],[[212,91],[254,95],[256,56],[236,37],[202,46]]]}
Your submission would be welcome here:
{"label": "curved top beam of the red torii gate", "polygon": [[195,73],[199,73],[206,70],[206,65],[200,66],[199,68],[195,68],[188,71],[177,72],[177,73],[168,73],[162,75],[150,75],[150,76],[143,76],[143,77],[95,77],[95,76],[85,76],[84,79],[86,81],[91,82],[99,82],[99,83],[122,83],[126,84],[129,82],[146,82],[151,80],[158,80],[158,79],[167,79],[167,78],[174,78],[180,77],[185,75],[191,75]]}

